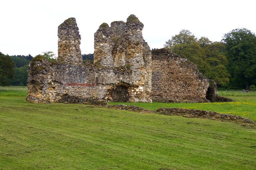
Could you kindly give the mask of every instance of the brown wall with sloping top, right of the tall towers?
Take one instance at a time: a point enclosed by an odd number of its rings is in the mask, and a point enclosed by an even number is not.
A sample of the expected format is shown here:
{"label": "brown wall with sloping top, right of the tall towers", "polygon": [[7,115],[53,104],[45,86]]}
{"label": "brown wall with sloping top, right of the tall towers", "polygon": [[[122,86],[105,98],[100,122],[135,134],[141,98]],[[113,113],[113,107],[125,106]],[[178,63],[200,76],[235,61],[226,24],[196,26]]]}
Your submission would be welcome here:
{"label": "brown wall with sloping top, right of the tall towers", "polygon": [[168,49],[152,51],[152,101],[209,102],[208,80],[194,63]]}

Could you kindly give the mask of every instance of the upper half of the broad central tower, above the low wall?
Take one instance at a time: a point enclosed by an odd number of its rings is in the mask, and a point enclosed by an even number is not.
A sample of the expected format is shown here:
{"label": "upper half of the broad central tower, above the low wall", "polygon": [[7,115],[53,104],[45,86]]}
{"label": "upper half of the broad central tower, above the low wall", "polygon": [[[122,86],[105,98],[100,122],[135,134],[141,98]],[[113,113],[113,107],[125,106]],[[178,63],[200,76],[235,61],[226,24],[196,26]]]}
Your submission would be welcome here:
{"label": "upper half of the broad central tower, above the low wall", "polygon": [[100,25],[94,34],[94,63],[119,67],[130,65],[134,69],[151,64],[151,51],[142,36],[144,25],[135,15],[126,22],[115,21]]}

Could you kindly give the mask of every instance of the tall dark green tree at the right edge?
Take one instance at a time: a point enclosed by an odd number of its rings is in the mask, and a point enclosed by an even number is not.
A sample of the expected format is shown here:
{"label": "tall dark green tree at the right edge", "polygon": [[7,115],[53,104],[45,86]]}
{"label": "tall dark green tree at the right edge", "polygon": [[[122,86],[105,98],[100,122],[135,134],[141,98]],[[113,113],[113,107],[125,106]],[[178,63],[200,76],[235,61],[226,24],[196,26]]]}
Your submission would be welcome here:
{"label": "tall dark green tree at the right edge", "polygon": [[249,89],[249,85],[256,84],[255,34],[246,28],[235,29],[224,34],[222,42],[229,61],[230,85]]}

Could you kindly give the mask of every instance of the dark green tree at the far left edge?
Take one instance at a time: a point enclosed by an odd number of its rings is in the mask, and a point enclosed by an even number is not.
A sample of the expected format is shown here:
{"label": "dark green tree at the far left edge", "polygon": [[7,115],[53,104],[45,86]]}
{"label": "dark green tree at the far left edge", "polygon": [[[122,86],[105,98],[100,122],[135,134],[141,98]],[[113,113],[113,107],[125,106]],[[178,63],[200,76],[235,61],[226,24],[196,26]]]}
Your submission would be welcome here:
{"label": "dark green tree at the far left edge", "polygon": [[13,77],[14,62],[9,55],[0,52],[0,85],[9,86]]}

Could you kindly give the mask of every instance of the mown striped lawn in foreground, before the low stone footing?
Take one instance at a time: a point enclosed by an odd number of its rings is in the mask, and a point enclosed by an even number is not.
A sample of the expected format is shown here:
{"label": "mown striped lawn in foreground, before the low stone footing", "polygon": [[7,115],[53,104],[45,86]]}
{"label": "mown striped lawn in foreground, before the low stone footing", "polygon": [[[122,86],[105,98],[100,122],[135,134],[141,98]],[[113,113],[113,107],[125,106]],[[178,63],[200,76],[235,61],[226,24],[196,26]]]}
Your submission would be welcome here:
{"label": "mown striped lawn in foreground, before the low stone footing", "polygon": [[90,105],[32,104],[22,89],[11,89],[0,88],[1,170],[256,167],[252,127]]}

